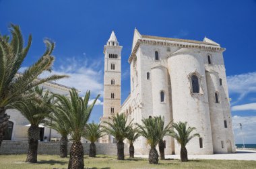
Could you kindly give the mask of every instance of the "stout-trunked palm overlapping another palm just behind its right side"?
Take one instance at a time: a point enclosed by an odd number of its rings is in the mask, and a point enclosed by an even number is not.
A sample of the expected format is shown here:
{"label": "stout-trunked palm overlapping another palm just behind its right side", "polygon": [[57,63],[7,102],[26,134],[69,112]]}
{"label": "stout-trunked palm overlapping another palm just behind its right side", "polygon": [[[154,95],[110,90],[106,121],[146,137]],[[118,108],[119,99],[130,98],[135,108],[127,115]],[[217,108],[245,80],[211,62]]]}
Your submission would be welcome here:
{"label": "stout-trunked palm overlapping another palm just behind its right side", "polygon": [[143,125],[138,123],[136,123],[136,125],[139,127],[139,134],[145,137],[150,145],[148,161],[150,164],[158,164],[158,152],[156,151],[156,145],[160,137],[158,117],[150,117],[148,119],[142,119],[141,121]]}

